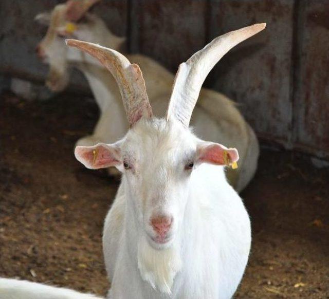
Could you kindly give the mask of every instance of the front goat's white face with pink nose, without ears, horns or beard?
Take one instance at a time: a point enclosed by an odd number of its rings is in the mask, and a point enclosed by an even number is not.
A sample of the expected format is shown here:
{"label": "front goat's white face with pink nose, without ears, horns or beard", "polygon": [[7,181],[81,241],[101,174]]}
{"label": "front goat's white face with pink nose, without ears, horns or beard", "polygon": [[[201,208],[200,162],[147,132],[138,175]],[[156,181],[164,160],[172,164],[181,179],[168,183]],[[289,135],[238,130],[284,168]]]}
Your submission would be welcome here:
{"label": "front goat's white face with pink nose, without ears, horns or beard", "polygon": [[123,181],[140,233],[153,248],[166,248],[184,217],[195,138],[180,124],[144,120],[127,134],[121,153]]}

